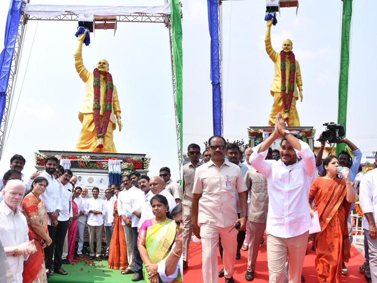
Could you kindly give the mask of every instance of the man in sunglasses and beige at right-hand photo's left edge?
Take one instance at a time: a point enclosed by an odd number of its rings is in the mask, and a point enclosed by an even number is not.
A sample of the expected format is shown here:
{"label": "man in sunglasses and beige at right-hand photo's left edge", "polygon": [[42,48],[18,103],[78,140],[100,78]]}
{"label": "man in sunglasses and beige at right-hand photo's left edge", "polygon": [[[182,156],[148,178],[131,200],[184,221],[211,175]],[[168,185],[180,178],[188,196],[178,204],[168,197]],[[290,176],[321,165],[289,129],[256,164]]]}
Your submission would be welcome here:
{"label": "man in sunglasses and beige at right-hand photo's left edge", "polygon": [[185,196],[183,198],[183,268],[187,268],[187,253],[191,241],[192,226],[191,226],[191,203],[192,203],[192,189],[194,186],[195,169],[202,165],[199,162],[200,146],[195,143],[187,147],[187,156],[190,162],[183,166],[183,191]]}

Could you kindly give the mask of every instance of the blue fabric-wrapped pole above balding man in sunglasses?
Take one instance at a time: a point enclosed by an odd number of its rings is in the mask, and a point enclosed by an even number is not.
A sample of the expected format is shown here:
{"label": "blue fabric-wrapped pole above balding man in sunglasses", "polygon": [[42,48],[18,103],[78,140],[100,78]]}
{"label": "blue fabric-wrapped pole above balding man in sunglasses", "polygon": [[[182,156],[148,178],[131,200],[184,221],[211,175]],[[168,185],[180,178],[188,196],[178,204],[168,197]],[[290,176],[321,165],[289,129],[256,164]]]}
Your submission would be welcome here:
{"label": "blue fabric-wrapped pole above balding man in sunglasses", "polygon": [[207,0],[208,26],[211,37],[211,74],[213,134],[221,135],[221,88],[219,58],[218,0]]}

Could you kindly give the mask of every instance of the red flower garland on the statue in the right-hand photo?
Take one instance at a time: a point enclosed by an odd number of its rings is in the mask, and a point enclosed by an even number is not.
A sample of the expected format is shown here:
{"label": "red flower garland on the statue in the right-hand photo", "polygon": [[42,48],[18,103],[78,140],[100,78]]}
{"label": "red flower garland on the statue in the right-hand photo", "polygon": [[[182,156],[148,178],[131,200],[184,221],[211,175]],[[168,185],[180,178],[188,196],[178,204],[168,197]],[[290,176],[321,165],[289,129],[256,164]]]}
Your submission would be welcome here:
{"label": "red flower garland on the statue in the right-hand photo", "polygon": [[294,57],[293,52],[289,52],[289,59],[290,59],[290,76],[289,76],[289,88],[288,88],[288,103],[287,103],[287,85],[286,85],[286,77],[285,77],[285,52],[284,50],[280,51],[280,70],[281,70],[281,91],[282,91],[282,102],[284,108],[284,121],[288,120],[289,117],[289,110],[291,109],[293,93],[294,93],[294,80],[296,78],[296,59]]}

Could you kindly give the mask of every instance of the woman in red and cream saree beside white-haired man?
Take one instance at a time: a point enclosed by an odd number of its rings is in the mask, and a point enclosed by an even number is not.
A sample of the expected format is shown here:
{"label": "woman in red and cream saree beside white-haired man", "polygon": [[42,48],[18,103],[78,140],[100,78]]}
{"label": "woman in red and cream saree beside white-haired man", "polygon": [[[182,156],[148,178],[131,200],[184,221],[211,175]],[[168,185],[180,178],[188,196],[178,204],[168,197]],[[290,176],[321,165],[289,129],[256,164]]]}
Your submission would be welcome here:
{"label": "woman in red and cream saree beside white-haired man", "polygon": [[21,212],[28,221],[29,239],[34,240],[34,244],[37,247],[37,252],[29,255],[28,260],[24,261],[23,283],[47,283],[43,249],[51,245],[52,240],[47,229],[46,207],[39,198],[46,190],[47,185],[46,178],[34,178],[31,190],[26,192],[21,204]]}

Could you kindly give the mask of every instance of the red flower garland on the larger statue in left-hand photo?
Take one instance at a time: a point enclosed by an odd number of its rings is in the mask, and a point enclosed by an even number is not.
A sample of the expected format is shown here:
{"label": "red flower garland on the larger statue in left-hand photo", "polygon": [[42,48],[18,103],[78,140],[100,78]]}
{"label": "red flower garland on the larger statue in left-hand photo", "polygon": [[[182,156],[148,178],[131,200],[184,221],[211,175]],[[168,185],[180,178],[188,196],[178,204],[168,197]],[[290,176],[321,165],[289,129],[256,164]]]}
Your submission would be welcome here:
{"label": "red flower garland on the larger statue in left-hand photo", "polygon": [[113,101],[113,78],[109,72],[106,73],[106,102],[105,102],[105,112],[103,115],[102,127],[101,127],[101,79],[100,70],[95,68],[93,70],[93,91],[94,91],[94,101],[93,101],[93,114],[94,114],[94,126],[97,133],[97,148],[103,148],[103,140],[107,132],[107,126],[109,125],[110,115],[112,111],[112,101]]}

